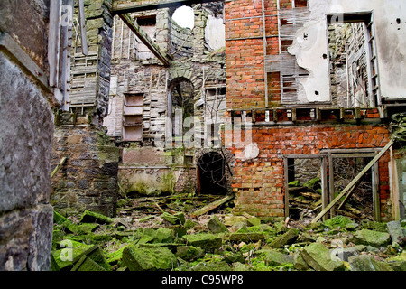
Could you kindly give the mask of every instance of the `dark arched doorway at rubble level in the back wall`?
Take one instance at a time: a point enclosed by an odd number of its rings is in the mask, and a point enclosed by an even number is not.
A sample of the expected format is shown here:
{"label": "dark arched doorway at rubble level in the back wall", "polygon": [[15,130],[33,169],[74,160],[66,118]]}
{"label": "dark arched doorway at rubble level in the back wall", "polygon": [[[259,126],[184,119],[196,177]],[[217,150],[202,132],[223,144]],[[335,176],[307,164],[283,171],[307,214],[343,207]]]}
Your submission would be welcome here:
{"label": "dark arched doorway at rubble level in the back wall", "polygon": [[198,161],[198,193],[226,195],[226,165],[221,154],[203,154]]}

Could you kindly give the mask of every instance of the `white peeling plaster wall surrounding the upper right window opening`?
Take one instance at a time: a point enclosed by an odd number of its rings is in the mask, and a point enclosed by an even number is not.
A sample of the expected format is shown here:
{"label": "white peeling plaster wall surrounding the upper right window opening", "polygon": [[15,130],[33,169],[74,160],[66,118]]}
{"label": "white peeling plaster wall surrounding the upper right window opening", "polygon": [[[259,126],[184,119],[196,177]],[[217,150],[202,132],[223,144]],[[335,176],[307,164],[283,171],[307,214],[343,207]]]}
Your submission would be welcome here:
{"label": "white peeling plaster wall surrounding the upper right window opening", "polygon": [[[328,14],[351,14],[372,12],[376,32],[379,78],[383,98],[404,99],[406,75],[401,70],[406,66],[406,3],[389,0],[309,0],[309,22],[296,35],[289,52],[296,56],[298,65],[309,70],[309,78],[301,80],[304,95],[300,100],[308,102],[330,101],[328,60]],[[399,19],[399,20],[398,20]],[[303,35],[307,34],[305,40]],[[389,46],[390,45],[390,46]],[[315,95],[318,91],[318,95]]]}

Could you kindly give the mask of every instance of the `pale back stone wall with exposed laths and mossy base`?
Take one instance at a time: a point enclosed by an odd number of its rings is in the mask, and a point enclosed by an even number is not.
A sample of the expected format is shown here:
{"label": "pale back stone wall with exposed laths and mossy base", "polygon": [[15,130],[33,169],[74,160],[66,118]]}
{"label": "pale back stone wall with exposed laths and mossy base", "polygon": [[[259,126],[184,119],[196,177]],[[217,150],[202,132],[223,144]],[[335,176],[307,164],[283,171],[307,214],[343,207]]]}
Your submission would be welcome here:
{"label": "pale back stone wall with exposed laths and mossy base", "polygon": [[[197,151],[185,152],[181,148],[166,150],[156,144],[155,140],[165,140],[168,125],[166,117],[169,115],[168,94],[180,80],[189,81],[193,86],[195,116],[205,117],[212,122],[226,111],[224,91],[222,94],[218,90],[216,97],[208,96],[205,90],[208,87],[224,90],[226,82],[224,50],[212,51],[205,37],[208,14],[223,12],[218,5],[208,5],[208,9],[205,6],[193,6],[193,31],[171,21],[174,12],[171,8],[132,14],[134,17],[155,17],[154,34],[150,36],[162,51],[173,57],[169,67],[164,67],[153,56],[146,60],[134,57],[137,54],[134,50],[134,33],[115,17],[114,60],[111,68],[113,81],[109,115],[104,120],[104,126],[108,128],[108,135],[122,142],[124,148],[119,182],[125,193],[159,194],[195,190]],[[123,142],[123,107],[125,95],[128,94],[143,96],[143,140],[137,143]],[[211,107],[218,104],[218,111],[206,107],[205,98]]]}

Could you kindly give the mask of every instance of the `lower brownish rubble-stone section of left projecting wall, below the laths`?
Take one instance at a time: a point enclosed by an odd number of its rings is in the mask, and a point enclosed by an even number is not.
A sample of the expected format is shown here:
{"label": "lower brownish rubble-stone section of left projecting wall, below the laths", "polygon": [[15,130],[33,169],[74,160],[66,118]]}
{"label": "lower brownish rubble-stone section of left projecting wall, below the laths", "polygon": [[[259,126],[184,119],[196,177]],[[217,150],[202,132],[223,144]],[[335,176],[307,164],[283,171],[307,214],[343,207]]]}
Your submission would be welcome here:
{"label": "lower brownish rubble-stone section of left projecting wall, below the laths", "polygon": [[93,210],[115,216],[119,149],[108,144],[105,134],[103,127],[92,125],[55,126],[52,165],[68,158],[52,179],[51,204],[61,214]]}

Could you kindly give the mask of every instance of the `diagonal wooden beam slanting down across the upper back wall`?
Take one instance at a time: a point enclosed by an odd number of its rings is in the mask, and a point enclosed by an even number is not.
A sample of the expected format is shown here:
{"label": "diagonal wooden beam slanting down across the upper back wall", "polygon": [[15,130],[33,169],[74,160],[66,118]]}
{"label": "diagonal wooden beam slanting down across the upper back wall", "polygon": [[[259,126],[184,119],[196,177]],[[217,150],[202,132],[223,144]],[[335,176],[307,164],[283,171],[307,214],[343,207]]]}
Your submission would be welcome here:
{"label": "diagonal wooden beam slanting down across the upper back wall", "polygon": [[133,18],[131,18],[128,14],[119,14],[120,18],[123,22],[131,29],[131,31],[137,35],[137,37],[148,47],[153,55],[155,55],[165,66],[171,65],[171,57],[166,54],[165,52],[161,51],[161,49],[156,45],[155,42],[152,41],[150,36],[143,31],[143,29],[134,22]]}

